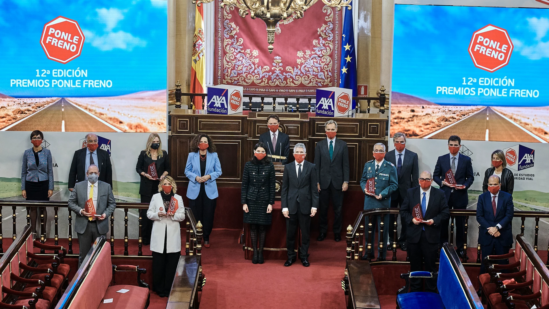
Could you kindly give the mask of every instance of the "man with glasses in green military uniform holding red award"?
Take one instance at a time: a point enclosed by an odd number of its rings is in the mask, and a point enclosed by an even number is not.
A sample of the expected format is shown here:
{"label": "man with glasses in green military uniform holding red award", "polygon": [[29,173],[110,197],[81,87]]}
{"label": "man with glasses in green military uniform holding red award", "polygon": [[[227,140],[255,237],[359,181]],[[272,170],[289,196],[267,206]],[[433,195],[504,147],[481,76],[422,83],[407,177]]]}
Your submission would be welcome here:
{"label": "man with glasses in green military uniform holding red award", "polygon": [[[389,208],[391,205],[391,194],[399,188],[399,182],[396,176],[396,167],[386,161],[385,158],[385,145],[377,143],[373,149],[374,160],[366,162],[364,165],[364,171],[362,172],[362,178],[360,179],[360,187],[365,192],[364,198],[364,210],[376,209],[376,208]],[[373,182],[374,193],[369,192],[367,185],[368,182]],[[368,194],[371,193],[371,194]],[[375,196],[374,196],[375,195]],[[383,216],[383,219],[382,219]],[[372,255],[369,256],[373,259],[374,244],[378,244],[378,257],[377,262],[385,261],[387,252],[387,240],[389,239],[389,214],[382,216],[374,216],[372,218]],[[383,220],[383,235],[378,232],[378,237],[375,237],[376,222],[378,231],[381,231],[381,220]],[[365,232],[368,232],[369,217],[365,219]],[[380,238],[380,236],[382,236]],[[376,240],[377,239],[377,240]],[[377,242],[376,242],[377,241]],[[367,253],[366,253],[367,254]],[[363,259],[368,259],[365,255]]]}

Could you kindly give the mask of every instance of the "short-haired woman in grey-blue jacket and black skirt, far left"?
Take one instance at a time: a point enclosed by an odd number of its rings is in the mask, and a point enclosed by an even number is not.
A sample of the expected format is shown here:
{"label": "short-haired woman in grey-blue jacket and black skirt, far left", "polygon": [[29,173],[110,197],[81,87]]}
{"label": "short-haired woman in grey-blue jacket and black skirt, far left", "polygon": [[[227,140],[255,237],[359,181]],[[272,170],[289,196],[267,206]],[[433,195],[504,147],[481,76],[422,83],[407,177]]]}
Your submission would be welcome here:
{"label": "short-haired woman in grey-blue jacket and black skirt, far left", "polygon": [[[49,201],[53,195],[53,170],[52,153],[49,149],[42,147],[44,134],[38,130],[32,131],[30,136],[32,148],[23,153],[23,165],[21,166],[21,195],[26,200],[31,201]],[[30,208],[31,228],[34,237],[37,238],[36,207]],[[46,233],[46,222],[48,213],[46,207],[40,207],[40,212],[44,216],[44,233]]]}

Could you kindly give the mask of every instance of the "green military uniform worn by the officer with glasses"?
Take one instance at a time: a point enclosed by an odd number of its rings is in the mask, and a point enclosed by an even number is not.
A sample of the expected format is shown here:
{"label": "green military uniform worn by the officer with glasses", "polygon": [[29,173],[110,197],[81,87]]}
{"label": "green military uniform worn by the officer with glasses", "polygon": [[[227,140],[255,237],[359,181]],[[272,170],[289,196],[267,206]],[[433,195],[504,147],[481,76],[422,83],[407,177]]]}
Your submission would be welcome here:
{"label": "green military uniform worn by the officer with glasses", "polygon": [[[365,194],[364,198],[364,210],[376,209],[376,208],[389,208],[391,206],[391,194],[399,188],[399,180],[396,174],[396,167],[389,161],[383,160],[376,171],[376,160],[368,161],[364,165],[364,171],[362,172],[362,178],[360,179],[360,187],[364,191],[366,187],[366,181],[370,178],[374,178],[376,194],[381,194],[382,198],[377,199],[374,196]],[[378,224],[378,231],[380,231],[381,216],[374,216],[372,218],[372,224]],[[369,217],[366,217],[365,232],[368,231]],[[383,248],[379,249],[378,259],[380,257],[385,260],[387,252],[387,240],[389,239],[389,214],[383,215]],[[373,227],[373,230],[376,228]],[[377,244],[379,244],[379,233],[377,238]],[[372,231],[372,246],[376,237],[375,232]]]}

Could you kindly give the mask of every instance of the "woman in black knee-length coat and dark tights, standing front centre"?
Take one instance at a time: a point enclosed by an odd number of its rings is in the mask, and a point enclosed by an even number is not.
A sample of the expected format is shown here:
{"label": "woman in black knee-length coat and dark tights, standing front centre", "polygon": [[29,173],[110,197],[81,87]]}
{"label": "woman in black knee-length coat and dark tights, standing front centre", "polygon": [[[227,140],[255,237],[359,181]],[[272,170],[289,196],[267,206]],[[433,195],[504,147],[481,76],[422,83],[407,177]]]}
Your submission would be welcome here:
{"label": "woman in black knee-length coat and dark tights, standing front centre", "polygon": [[250,224],[251,248],[254,249],[251,262],[254,264],[263,263],[266,226],[271,224],[271,211],[275,204],[275,166],[266,157],[266,149],[264,143],[255,145],[254,156],[244,165],[242,175],[242,209],[244,223]]}

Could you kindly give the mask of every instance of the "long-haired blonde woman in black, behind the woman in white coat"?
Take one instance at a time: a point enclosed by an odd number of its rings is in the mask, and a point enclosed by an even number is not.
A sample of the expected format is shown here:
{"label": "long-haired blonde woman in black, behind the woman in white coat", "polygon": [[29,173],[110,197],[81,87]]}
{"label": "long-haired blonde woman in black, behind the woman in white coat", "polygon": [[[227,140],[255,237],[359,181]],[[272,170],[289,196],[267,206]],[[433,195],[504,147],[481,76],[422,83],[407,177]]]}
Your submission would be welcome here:
{"label": "long-haired blonde woman in black, behind the woman in white coat", "polygon": [[[145,150],[141,150],[137,158],[136,171],[141,176],[141,182],[139,183],[141,203],[150,203],[153,195],[158,192],[160,179],[170,173],[170,160],[166,150],[162,149],[162,141],[157,133],[150,133]],[[141,223],[143,244],[148,245],[150,244],[153,221],[147,218],[144,209],[139,210],[139,212],[141,212],[143,218]]]}

